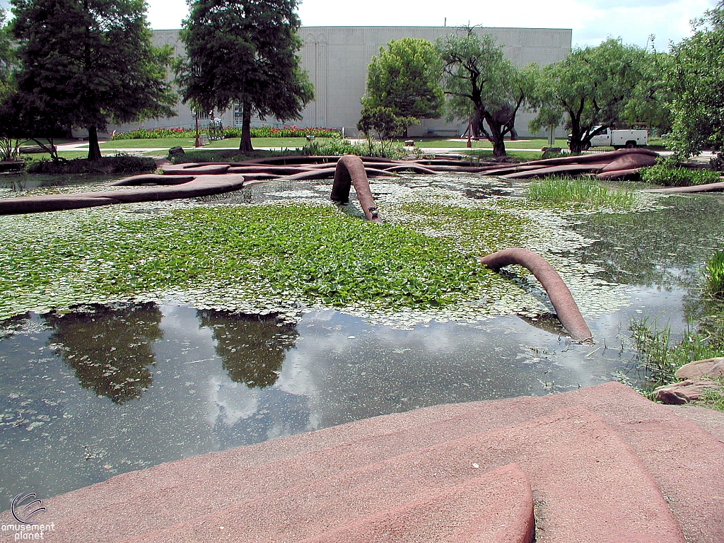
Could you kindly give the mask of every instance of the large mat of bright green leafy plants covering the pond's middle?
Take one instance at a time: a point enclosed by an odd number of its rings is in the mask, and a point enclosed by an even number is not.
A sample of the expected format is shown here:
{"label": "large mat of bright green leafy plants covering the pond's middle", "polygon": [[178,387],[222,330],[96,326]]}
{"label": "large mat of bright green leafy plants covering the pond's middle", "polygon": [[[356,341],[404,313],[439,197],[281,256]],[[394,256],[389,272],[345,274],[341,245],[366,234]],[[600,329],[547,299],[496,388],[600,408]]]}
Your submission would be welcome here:
{"label": "large mat of bright green leafy plants covering the pond's middle", "polygon": [[190,289],[261,307],[424,309],[480,298],[500,282],[445,240],[329,204],[74,213],[75,224],[28,227],[0,248],[0,318]]}

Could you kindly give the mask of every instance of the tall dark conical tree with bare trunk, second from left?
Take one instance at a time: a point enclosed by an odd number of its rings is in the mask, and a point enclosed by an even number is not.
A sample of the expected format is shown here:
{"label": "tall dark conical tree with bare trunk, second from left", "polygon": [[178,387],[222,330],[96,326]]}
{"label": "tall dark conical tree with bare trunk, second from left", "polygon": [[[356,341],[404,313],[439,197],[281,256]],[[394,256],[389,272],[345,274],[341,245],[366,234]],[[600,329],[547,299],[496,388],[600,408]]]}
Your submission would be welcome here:
{"label": "tall dark conical tree with bare trunk, second from left", "polygon": [[251,117],[300,119],[314,98],[300,67],[297,0],[198,0],[190,3],[177,66],[184,102],[197,111],[242,109],[240,151],[253,151]]}

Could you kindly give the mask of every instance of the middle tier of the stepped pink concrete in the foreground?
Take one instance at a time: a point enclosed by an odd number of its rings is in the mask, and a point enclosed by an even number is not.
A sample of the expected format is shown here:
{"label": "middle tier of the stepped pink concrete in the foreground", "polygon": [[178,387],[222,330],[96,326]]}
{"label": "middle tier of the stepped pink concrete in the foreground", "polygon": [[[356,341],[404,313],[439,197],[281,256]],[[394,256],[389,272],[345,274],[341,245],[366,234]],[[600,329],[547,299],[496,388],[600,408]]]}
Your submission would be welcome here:
{"label": "middle tier of the stepped pink concrete in the foreground", "polygon": [[[121,541],[299,541],[509,463],[518,463],[531,480],[539,501],[536,526],[541,543],[684,542],[659,489],[633,452],[601,418],[582,408],[368,466],[345,466],[346,471],[325,479]],[[270,467],[272,478],[277,469],[291,468]],[[222,481],[209,484],[224,488]],[[53,535],[62,538],[58,541],[74,540],[64,531]]]}

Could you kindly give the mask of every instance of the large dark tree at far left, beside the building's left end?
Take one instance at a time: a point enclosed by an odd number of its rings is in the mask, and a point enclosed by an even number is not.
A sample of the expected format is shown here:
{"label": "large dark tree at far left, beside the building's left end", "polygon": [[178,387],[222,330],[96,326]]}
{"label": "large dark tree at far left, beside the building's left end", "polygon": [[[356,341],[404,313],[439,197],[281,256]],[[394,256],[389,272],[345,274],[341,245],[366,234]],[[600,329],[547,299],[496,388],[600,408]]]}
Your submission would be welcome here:
{"label": "large dark tree at far left, beside the building's left end", "polygon": [[172,115],[170,49],[151,46],[143,0],[12,0],[21,102],[88,129],[88,159],[110,121]]}

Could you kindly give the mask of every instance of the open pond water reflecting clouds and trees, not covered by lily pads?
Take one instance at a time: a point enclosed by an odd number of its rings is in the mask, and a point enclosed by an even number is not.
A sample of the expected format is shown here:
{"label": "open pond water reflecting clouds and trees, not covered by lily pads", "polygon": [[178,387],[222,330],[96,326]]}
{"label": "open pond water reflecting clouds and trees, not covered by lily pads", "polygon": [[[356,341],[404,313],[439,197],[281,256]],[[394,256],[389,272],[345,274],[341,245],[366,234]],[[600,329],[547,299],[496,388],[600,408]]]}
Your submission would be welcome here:
{"label": "open pond water reflecting clouds and trees, not covered by lily pads", "polygon": [[720,196],[704,195],[569,221],[589,243],[568,258],[597,269],[584,283],[616,285],[609,311],[579,299],[595,345],[515,315],[399,326],[320,308],[282,320],[159,300],[14,316],[0,323],[0,508],[19,492],[49,497],[426,405],[641,384],[631,319],[686,326],[698,270],[724,245],[723,211]]}

